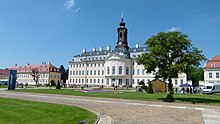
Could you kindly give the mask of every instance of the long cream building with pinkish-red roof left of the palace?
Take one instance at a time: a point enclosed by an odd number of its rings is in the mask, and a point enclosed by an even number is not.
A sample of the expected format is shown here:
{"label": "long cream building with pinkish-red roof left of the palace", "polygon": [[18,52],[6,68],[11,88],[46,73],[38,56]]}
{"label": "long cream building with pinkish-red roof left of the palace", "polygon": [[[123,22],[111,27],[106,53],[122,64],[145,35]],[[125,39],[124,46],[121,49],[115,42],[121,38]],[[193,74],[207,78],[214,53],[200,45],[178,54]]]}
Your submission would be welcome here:
{"label": "long cream building with pinkish-red roof left of the palace", "polygon": [[17,82],[18,83],[28,83],[29,85],[35,85],[35,81],[33,80],[33,72],[32,70],[38,70],[39,72],[39,84],[45,85],[49,84],[50,81],[61,81],[61,74],[59,73],[59,69],[52,65],[51,63],[42,63],[36,65],[23,65],[18,66],[17,64],[10,69],[17,70]]}

